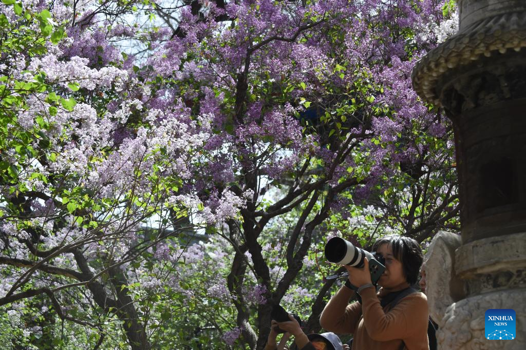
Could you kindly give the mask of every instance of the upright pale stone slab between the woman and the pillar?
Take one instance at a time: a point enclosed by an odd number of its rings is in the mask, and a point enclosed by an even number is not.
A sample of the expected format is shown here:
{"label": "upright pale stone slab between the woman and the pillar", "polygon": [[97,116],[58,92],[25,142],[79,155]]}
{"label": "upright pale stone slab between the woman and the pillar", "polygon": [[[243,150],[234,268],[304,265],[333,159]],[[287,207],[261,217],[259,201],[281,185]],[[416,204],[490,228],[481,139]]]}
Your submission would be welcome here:
{"label": "upright pale stone slab between the woman and the pillar", "polygon": [[442,318],[448,306],[464,296],[464,283],[454,270],[455,250],[461,244],[458,234],[440,231],[424,257],[429,315],[439,327],[443,326]]}

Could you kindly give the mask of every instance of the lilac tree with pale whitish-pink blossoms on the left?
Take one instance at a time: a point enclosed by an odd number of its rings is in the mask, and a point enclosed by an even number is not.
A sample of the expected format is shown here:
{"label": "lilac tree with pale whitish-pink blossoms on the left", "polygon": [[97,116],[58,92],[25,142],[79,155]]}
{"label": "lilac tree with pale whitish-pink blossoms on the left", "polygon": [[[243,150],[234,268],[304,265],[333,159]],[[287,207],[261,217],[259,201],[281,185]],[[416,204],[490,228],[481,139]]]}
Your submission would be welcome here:
{"label": "lilac tree with pale whitish-pink blossoms on the left", "polygon": [[47,311],[98,331],[97,347],[102,313],[123,321],[129,346],[149,348],[133,293],[156,273],[147,259],[161,241],[234,217],[245,199],[224,191],[218,210],[188,220],[181,187],[210,119],[145,107],[136,97],[148,84],[110,44],[122,31],[96,25],[98,9],[5,3],[0,305],[46,296]]}

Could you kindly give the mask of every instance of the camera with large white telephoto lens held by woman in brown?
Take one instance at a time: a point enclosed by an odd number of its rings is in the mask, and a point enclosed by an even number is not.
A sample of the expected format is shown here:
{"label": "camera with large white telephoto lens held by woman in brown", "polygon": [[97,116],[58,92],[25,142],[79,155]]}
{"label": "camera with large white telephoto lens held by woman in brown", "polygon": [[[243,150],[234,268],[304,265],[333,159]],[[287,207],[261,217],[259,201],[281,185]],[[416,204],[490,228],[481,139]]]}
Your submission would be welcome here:
{"label": "camera with large white telephoto lens held by woman in brown", "polygon": [[353,267],[363,267],[363,259],[367,258],[373,284],[378,282],[383,271],[386,270],[386,260],[381,254],[376,252],[369,253],[340,237],[333,237],[327,242],[325,245],[325,258],[335,264]]}

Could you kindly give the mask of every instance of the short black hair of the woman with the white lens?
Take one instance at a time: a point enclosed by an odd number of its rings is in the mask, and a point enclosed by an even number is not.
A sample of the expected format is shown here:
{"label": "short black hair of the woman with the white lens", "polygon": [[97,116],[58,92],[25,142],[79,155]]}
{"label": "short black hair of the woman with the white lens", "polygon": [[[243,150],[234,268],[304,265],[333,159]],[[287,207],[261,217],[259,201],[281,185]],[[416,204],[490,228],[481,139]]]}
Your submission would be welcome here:
{"label": "short black hair of the woman with the white lens", "polygon": [[372,245],[372,251],[380,245],[387,243],[393,250],[393,255],[402,263],[403,275],[409,285],[417,283],[420,266],[423,262],[422,249],[417,241],[407,236],[389,235],[378,239]]}

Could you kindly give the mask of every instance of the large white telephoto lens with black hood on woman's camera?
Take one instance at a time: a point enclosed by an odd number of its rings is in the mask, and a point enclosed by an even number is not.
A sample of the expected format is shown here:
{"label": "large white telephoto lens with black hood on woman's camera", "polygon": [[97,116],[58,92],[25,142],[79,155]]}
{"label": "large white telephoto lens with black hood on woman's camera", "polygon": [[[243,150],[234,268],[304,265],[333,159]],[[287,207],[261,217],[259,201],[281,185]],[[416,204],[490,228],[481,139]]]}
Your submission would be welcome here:
{"label": "large white telephoto lens with black hood on woman's camera", "polygon": [[374,256],[368,251],[358,248],[340,237],[333,237],[327,242],[325,257],[331,263],[353,267],[363,267],[363,259],[366,257],[369,261],[374,259]]}

